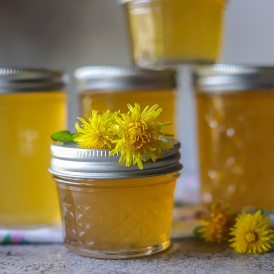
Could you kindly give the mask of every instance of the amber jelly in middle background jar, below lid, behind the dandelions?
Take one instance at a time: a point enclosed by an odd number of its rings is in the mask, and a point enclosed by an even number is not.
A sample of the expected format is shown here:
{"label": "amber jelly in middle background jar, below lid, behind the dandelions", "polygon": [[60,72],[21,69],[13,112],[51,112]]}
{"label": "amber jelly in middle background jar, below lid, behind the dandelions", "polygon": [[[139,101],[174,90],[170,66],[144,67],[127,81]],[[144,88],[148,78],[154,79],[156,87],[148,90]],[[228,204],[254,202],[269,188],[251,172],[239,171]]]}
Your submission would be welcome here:
{"label": "amber jelly in middle background jar, below lid, behind the dandelions", "polygon": [[92,110],[100,113],[109,109],[112,112],[120,110],[122,113],[129,111],[128,104],[140,104],[141,109],[158,104],[162,108],[157,120],[160,122],[173,122],[173,125],[164,128],[169,134],[176,134],[175,120],[175,91],[173,90],[144,90],[106,92],[86,90],[82,92],[82,114],[89,116]]}

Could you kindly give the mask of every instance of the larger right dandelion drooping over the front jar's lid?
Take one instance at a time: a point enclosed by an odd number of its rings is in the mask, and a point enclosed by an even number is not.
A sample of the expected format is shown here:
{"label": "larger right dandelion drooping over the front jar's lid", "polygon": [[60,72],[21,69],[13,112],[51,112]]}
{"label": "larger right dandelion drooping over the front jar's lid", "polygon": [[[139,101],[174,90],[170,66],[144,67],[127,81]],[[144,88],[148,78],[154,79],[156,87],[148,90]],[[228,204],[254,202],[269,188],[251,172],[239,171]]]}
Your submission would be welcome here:
{"label": "larger right dandelion drooping over the front jar's lid", "polygon": [[170,150],[174,146],[161,137],[171,136],[163,133],[164,127],[172,125],[171,122],[160,123],[156,118],[161,113],[162,109],[158,105],[145,107],[141,112],[140,105],[135,104],[135,107],[128,104],[128,114],[122,114],[117,117],[117,134],[121,138],[116,140],[117,145],[111,151],[113,155],[122,151],[120,162],[126,161],[126,165],[132,163],[137,164],[139,169],[143,168],[142,161],[146,158],[153,162],[158,157],[163,157],[162,150]]}

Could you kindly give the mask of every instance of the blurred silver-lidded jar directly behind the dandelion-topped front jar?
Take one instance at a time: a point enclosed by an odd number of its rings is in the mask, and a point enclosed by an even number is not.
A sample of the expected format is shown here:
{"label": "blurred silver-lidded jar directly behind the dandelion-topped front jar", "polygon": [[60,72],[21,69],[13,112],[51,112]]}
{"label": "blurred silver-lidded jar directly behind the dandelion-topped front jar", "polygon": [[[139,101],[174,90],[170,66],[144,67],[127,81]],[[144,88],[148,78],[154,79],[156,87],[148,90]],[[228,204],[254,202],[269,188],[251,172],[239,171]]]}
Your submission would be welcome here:
{"label": "blurred silver-lidded jar directly behind the dandelion-topped front jar", "polygon": [[162,108],[158,121],[173,122],[165,132],[175,133],[175,71],[90,66],[78,68],[74,76],[83,116],[89,116],[92,110],[127,113],[128,104],[139,103],[141,108],[158,104]]}

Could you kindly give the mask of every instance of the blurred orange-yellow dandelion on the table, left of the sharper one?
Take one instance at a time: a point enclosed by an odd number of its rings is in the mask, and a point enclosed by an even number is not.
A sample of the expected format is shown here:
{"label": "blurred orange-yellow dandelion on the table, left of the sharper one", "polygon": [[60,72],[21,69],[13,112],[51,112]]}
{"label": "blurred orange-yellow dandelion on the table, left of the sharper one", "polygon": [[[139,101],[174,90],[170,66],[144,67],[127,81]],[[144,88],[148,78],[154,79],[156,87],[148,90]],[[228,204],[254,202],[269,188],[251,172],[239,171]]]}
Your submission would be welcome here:
{"label": "blurred orange-yellow dandelion on the table, left of the sharper one", "polygon": [[229,238],[230,228],[235,223],[235,213],[229,205],[221,202],[212,203],[209,214],[201,217],[201,227],[197,230],[205,242],[221,243]]}

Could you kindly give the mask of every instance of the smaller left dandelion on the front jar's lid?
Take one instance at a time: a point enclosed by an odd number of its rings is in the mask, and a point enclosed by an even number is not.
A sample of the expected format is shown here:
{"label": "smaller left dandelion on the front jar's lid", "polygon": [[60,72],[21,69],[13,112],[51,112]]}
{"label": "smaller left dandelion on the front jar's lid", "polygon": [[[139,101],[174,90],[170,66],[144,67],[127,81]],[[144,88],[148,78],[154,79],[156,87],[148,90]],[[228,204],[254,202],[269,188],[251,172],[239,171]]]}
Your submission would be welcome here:
{"label": "smaller left dandelion on the front jar's lid", "polygon": [[110,113],[107,110],[103,115],[98,115],[97,111],[93,110],[87,121],[78,117],[82,124],[76,122],[78,134],[75,134],[73,140],[82,148],[113,148],[117,138],[114,123],[116,116],[117,112]]}

